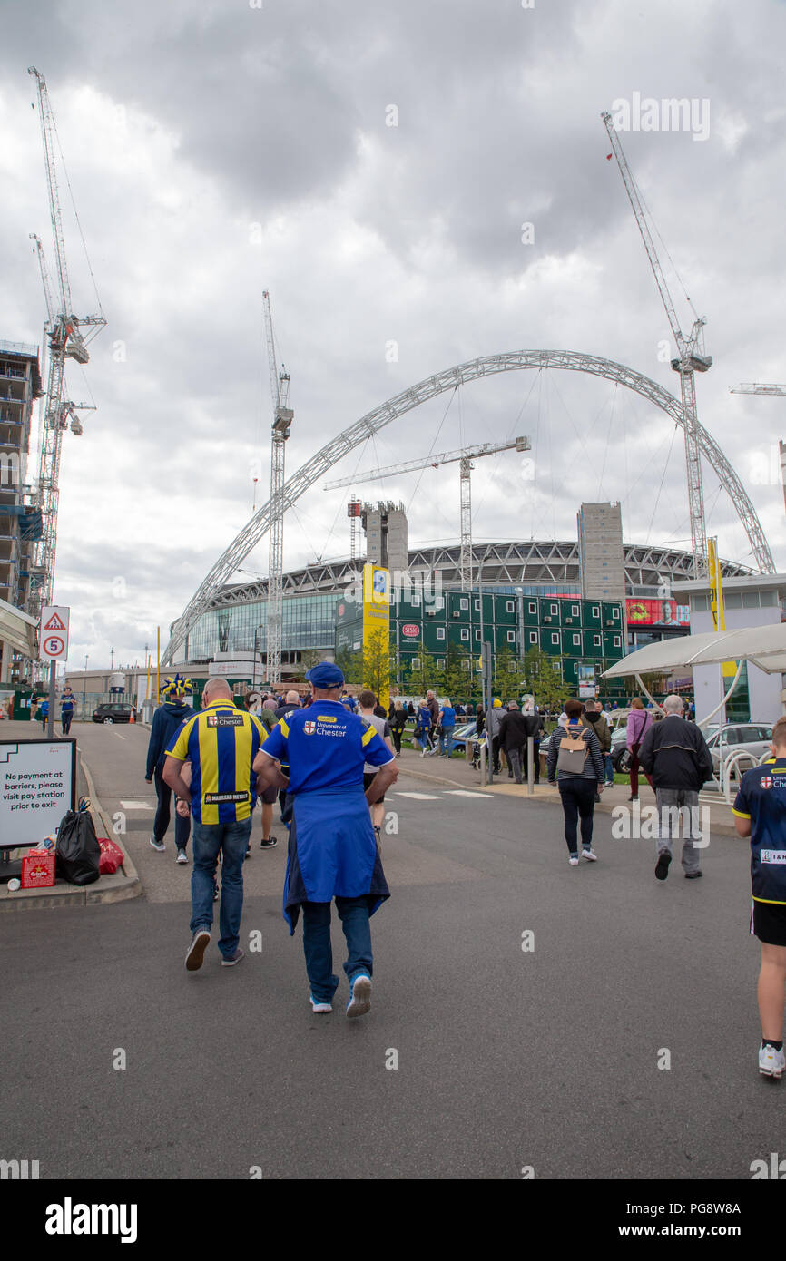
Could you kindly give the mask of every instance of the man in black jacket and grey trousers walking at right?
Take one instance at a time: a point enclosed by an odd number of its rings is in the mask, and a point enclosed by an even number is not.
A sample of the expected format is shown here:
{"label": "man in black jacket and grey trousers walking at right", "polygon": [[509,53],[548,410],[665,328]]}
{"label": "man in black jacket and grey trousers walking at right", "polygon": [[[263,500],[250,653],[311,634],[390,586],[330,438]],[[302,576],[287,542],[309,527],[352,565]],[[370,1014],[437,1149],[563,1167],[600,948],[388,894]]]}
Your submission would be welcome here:
{"label": "man in black jacket and grey trousers walking at right", "polygon": [[[643,738],[638,760],[652,776],[659,813],[657,864],[655,875],[665,880],[671,863],[671,841],[679,835],[683,820],[683,870],[688,880],[698,880],[699,791],[713,777],[713,758],[700,728],[683,718],[680,696],[666,696],[665,719],[655,723]],[[686,810],[685,810],[686,808]],[[689,813],[690,823],[685,817]]]}

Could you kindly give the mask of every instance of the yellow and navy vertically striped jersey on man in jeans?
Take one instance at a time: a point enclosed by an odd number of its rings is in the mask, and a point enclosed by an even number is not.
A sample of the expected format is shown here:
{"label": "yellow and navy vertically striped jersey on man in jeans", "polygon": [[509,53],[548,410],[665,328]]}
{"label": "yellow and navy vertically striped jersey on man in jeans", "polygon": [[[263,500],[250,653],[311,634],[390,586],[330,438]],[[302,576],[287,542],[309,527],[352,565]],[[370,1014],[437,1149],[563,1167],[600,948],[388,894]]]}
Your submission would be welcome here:
{"label": "yellow and navy vertically striped jersey on man in jeans", "polygon": [[191,812],[197,823],[240,823],[256,803],[251,765],[267,733],[232,701],[207,705],[174,733],[168,757],[191,762]]}

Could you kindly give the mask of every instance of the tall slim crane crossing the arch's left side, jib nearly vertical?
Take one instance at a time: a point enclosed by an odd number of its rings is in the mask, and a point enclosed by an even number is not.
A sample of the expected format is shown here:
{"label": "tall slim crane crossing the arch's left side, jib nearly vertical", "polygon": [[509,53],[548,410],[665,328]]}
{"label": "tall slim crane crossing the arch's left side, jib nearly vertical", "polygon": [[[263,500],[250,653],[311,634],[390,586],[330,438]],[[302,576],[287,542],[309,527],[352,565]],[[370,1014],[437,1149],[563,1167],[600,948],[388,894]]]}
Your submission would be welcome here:
{"label": "tall slim crane crossing the arch's left side, jib nearly vertical", "polygon": [[270,551],[267,567],[267,682],[276,687],[281,682],[281,623],[283,623],[283,571],[284,571],[284,465],[285,443],[294,411],[289,404],[289,372],[281,364],[278,369],[270,294],[262,293],[265,306],[265,332],[267,337],[267,364],[270,368],[270,395],[273,398],[273,427],[270,444]]}

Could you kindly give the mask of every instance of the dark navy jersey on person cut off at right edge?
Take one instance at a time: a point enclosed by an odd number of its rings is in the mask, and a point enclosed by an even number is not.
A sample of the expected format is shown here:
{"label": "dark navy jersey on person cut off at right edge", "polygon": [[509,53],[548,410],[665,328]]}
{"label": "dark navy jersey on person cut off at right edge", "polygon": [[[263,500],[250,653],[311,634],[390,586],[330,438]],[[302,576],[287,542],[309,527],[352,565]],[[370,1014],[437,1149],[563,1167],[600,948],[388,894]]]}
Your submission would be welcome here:
{"label": "dark navy jersey on person cut off at right edge", "polygon": [[751,820],[753,900],[786,905],[786,757],[746,770],[733,812]]}

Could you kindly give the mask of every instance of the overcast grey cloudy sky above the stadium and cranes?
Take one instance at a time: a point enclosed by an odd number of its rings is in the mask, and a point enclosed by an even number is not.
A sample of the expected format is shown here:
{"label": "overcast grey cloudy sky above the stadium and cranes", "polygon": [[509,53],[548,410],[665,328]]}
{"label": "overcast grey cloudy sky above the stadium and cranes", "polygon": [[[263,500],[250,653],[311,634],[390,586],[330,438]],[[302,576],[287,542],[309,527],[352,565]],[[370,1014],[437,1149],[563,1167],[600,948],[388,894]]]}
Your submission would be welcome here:
{"label": "overcast grey cloudy sky above the stadium and cranes", "polygon": [[[54,264],[32,64],[107,319],[68,375],[69,396],[97,404],[63,444],[56,600],[72,608],[72,668],[85,653],[109,665],[110,648],[141,662],[158,624],[164,644],[252,514],[254,475],[256,506],[267,499],[265,288],[291,373],[288,474],[391,395],[477,356],[583,351],[679,392],[599,117],[635,110],[637,93],[695,102],[691,127],[659,113],[659,130],[621,140],[683,328],[684,291],[708,320],[699,419],[786,569],[785,400],[729,393],[786,381],[782,0],[4,0],[0,13],[0,338],[40,342],[29,232]],[[64,177],[61,195],[85,315],[97,299]],[[574,538],[582,499],[619,499],[627,541],[689,550],[681,430],[584,375],[511,372],[442,395],[333,475],[516,434],[531,438],[534,479],[515,453],[478,462],[476,541]],[[404,501],[410,546],[457,541],[458,489],[455,464],[357,484]],[[752,564],[708,464],[704,492],[722,555]],[[307,492],[286,518],[285,569],[348,555],[349,494]],[[266,570],[265,541],[237,576]]]}

